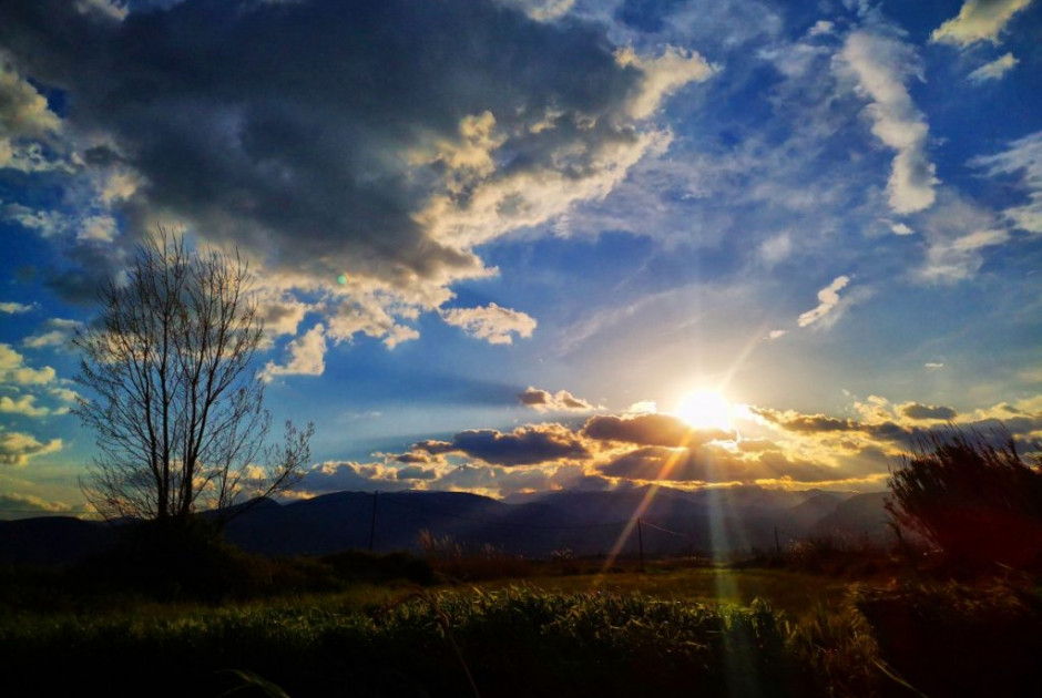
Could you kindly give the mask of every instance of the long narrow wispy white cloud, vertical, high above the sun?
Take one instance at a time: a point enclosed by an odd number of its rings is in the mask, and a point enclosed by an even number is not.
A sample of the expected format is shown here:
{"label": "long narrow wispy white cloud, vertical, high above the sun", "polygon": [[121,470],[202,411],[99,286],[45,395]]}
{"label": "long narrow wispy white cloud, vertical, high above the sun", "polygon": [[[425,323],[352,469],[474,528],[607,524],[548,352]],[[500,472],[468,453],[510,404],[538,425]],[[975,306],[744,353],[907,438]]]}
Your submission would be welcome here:
{"label": "long narrow wispy white cloud, vertical, high above the sun", "polygon": [[855,31],[840,51],[837,68],[857,82],[857,92],[871,100],[866,113],[872,133],[897,151],[887,183],[890,208],[908,214],[933,205],[934,166],[927,156],[929,127],[912,102],[905,81],[922,79],[911,47],[890,37]]}

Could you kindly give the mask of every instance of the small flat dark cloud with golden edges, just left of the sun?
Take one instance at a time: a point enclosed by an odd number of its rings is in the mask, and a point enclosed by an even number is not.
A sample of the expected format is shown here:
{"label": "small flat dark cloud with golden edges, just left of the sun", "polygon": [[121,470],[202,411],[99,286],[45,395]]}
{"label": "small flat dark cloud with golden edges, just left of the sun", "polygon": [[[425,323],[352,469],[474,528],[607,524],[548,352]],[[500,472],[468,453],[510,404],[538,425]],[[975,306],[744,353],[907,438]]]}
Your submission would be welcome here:
{"label": "small flat dark cloud with golden edges, just left of the sun", "polygon": [[436,455],[460,453],[496,465],[533,465],[590,456],[582,441],[559,424],[521,427],[505,433],[493,429],[463,431],[451,441],[421,441],[412,451]]}

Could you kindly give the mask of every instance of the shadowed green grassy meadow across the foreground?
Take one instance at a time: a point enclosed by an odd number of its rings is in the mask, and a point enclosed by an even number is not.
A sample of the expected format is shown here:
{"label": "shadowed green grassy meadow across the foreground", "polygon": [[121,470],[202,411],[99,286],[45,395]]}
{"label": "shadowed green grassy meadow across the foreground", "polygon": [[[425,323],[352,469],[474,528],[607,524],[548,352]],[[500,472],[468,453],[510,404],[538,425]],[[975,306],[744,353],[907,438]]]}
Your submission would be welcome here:
{"label": "shadowed green grassy meadow across the foreground", "polygon": [[[830,550],[823,546],[823,550]],[[4,572],[9,696],[1039,695],[1039,587],[907,561],[521,561],[496,551],[266,561],[112,592]],[[865,551],[851,552],[864,564]],[[33,576],[35,575],[35,576]],[[244,577],[255,577],[244,586]],[[232,582],[219,582],[219,578]],[[221,584],[231,584],[215,594]],[[208,585],[208,586],[207,586]],[[244,589],[249,589],[248,593]],[[109,589],[100,593],[100,589]]]}

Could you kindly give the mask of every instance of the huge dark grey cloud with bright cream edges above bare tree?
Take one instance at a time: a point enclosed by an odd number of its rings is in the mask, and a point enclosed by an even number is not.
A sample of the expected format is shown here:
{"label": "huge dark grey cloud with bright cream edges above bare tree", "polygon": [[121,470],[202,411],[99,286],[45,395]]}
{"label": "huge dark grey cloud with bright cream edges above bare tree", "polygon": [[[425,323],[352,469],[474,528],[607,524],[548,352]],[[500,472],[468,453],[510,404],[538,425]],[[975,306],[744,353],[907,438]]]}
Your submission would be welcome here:
{"label": "huge dark grey cloud with bright cream edges above bare tree", "polygon": [[[570,4],[4,2],[8,82],[39,123],[28,80],[60,85],[60,125],[84,154],[75,181],[90,195],[52,238],[83,271],[55,285],[114,271],[152,222],[176,220],[242,249],[274,296],[327,314],[337,341],[417,337],[400,320],[498,273],[479,245],[603,198],[672,137],[655,110],[712,72],[686,49],[620,53],[605,25],[555,21]],[[55,228],[30,214],[25,225]],[[94,270],[102,243],[111,260]],[[467,320],[490,341],[534,327],[490,308]]]}

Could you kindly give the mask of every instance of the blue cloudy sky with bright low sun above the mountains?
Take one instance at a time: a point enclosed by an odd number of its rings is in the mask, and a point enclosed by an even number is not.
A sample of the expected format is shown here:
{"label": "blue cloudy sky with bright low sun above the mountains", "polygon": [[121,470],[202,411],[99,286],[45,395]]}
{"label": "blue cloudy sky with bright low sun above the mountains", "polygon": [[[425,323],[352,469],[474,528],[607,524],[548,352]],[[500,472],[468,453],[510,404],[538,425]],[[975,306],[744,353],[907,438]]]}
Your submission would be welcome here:
{"label": "blue cloudy sky with bright low sun above the mountains", "polygon": [[294,497],[1030,450],[1040,75],[1039,0],[6,0],[0,517],[84,509],[69,340],[160,227],[251,263]]}

